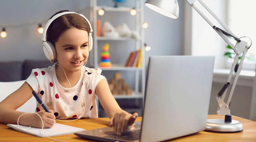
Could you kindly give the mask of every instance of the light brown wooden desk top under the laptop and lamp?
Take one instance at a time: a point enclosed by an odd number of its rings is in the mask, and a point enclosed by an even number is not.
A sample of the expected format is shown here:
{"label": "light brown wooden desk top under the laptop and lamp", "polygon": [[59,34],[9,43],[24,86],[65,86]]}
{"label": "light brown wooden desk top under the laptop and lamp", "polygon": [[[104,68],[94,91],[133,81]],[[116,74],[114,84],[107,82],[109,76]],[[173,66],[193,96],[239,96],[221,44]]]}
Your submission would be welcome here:
{"label": "light brown wooden desk top under the laptop and lamp", "polygon": [[[223,118],[221,115],[209,115],[209,119]],[[256,141],[256,122],[233,116],[234,120],[238,120],[243,124],[244,130],[237,133],[214,133],[201,131],[195,135],[185,136],[172,141]],[[72,122],[60,122],[69,126],[84,128],[86,130],[102,128],[108,126],[108,118],[97,118],[97,119],[81,119]],[[141,117],[137,118],[136,121],[141,121]],[[74,134],[55,136],[54,139],[63,141],[88,141],[81,139]],[[14,131],[8,129],[5,124],[0,124],[0,141],[52,141],[49,138],[39,138],[28,135],[26,133]]]}

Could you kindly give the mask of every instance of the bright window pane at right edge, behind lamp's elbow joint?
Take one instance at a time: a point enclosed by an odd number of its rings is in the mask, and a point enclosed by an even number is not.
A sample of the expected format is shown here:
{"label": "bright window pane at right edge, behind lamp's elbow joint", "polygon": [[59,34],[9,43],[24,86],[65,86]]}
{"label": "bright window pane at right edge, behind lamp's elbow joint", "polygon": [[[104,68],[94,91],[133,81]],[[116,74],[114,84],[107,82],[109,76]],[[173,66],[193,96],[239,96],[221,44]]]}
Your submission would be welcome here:
{"label": "bright window pane at right edge, behind lamp's elbow joint", "polygon": [[[248,50],[244,69],[253,69],[256,59],[256,19],[255,0],[228,0],[227,3],[227,24],[231,31],[238,37],[247,36],[252,40],[252,46]],[[246,40],[247,41],[247,40]],[[250,41],[250,40],[249,40]]]}

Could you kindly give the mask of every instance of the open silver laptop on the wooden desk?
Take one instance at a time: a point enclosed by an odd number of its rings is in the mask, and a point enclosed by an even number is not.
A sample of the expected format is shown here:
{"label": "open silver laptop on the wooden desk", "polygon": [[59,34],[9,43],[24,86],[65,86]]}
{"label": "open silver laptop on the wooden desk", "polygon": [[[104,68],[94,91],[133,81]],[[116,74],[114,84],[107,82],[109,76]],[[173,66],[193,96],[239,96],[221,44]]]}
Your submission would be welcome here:
{"label": "open silver laptop on the wooden desk", "polygon": [[213,76],[213,56],[149,58],[142,122],[122,136],[113,128],[77,132],[97,141],[163,141],[205,130]]}

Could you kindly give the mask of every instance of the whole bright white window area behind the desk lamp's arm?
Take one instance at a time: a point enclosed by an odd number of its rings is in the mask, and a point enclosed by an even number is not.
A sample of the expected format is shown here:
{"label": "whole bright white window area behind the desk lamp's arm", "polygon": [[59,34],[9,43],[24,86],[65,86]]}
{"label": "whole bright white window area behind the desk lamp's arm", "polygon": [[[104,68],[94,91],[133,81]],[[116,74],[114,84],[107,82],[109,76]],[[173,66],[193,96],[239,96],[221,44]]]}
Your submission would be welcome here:
{"label": "whole bright white window area behind the desk lamp's arm", "polygon": [[[226,23],[227,27],[237,37],[247,36],[252,40],[252,46],[248,50],[243,63],[243,70],[255,70],[256,59],[256,13],[255,0],[202,0],[218,18]],[[219,26],[219,23],[204,11],[198,2],[195,3],[210,21]],[[209,16],[210,15],[210,16]],[[213,20],[212,20],[213,19]],[[189,28],[188,28],[189,26]],[[247,41],[247,40],[246,40]],[[249,40],[250,41],[250,40]],[[216,31],[199,15],[191,6],[185,3],[185,55],[214,55],[215,69],[230,69],[233,59],[224,57],[227,43],[217,34]]]}

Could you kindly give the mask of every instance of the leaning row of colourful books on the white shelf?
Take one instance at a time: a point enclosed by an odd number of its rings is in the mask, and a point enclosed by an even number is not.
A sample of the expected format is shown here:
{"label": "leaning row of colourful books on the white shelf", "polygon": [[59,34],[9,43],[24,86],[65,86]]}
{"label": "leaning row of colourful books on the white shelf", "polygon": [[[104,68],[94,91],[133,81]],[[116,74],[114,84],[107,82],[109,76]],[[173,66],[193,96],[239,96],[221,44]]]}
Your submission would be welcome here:
{"label": "leaning row of colourful books on the white shelf", "polygon": [[139,67],[141,68],[141,63],[142,62],[142,52],[141,49],[138,51],[133,51],[130,53],[128,59],[126,60],[125,66],[126,67]]}

